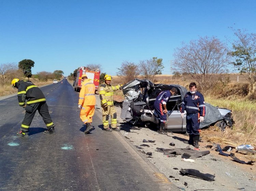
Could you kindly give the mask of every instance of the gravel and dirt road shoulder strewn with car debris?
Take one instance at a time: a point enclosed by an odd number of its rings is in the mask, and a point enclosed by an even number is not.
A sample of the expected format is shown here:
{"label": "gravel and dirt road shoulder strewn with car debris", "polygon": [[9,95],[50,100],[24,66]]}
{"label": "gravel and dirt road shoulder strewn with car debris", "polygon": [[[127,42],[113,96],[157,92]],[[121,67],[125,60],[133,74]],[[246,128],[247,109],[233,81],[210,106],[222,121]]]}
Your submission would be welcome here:
{"label": "gravel and dirt road shoulder strewn with car debris", "polygon": [[[115,101],[119,102],[120,97],[115,96]],[[141,152],[145,160],[149,160],[154,164],[159,171],[165,174],[181,190],[256,190],[256,162],[254,165],[241,164],[233,161],[231,157],[219,155],[214,149],[215,144],[206,142],[203,138],[203,142],[199,143],[200,151],[210,151],[210,154],[194,159],[195,162],[184,161],[181,155],[168,157],[161,152],[157,152],[156,148],[186,148],[188,144],[183,143],[183,141],[188,139],[187,136],[179,133],[168,133],[168,136],[159,135],[156,131],[157,129],[132,126],[119,118],[121,108],[116,107],[116,110],[118,126],[121,129],[120,133],[134,145],[134,149]],[[155,142],[143,142],[143,139]],[[170,146],[170,143],[174,143],[175,146]],[[149,147],[140,146],[141,144],[147,144]],[[205,148],[207,145],[213,145],[212,149]],[[140,146],[142,149],[138,149],[135,146]],[[226,145],[221,146],[224,148]],[[190,148],[194,149],[191,145]],[[152,158],[148,158],[148,155],[143,154],[143,151],[145,153],[152,152],[152,156],[150,156]],[[234,153],[234,151],[231,152]],[[235,156],[240,160],[248,161],[242,154],[235,153]],[[212,174],[215,178],[214,181],[206,181],[187,175],[183,176],[180,173],[181,169],[196,169],[204,174]]]}

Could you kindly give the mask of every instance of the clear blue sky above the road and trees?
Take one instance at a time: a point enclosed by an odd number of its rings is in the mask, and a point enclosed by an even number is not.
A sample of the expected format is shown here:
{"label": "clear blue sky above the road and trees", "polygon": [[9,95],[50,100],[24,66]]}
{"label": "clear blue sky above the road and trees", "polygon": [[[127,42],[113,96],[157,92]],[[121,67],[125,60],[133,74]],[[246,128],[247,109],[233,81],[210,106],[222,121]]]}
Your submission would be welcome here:
{"label": "clear blue sky above the road and trees", "polygon": [[256,33],[254,0],[1,0],[0,64],[35,62],[32,73],[101,64],[116,75],[125,60],[163,58],[181,42]]}

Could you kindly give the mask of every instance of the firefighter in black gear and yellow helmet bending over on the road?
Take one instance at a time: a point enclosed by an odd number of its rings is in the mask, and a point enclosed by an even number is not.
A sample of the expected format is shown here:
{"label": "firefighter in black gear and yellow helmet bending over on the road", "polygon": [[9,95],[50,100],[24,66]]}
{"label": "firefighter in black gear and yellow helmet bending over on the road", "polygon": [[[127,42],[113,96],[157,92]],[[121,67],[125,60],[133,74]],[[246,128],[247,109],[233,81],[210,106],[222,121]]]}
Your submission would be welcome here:
{"label": "firefighter in black gear and yellow helmet bending over on the road", "polygon": [[[18,102],[19,106],[25,108],[26,113],[17,136],[27,137],[28,128],[34,118],[35,112],[38,110],[42,116],[44,123],[48,130],[44,131],[45,134],[54,134],[54,124],[48,111],[46,99],[43,92],[32,82],[19,80],[17,78],[12,80],[12,86],[18,89]],[[27,102],[26,102],[27,100]]]}

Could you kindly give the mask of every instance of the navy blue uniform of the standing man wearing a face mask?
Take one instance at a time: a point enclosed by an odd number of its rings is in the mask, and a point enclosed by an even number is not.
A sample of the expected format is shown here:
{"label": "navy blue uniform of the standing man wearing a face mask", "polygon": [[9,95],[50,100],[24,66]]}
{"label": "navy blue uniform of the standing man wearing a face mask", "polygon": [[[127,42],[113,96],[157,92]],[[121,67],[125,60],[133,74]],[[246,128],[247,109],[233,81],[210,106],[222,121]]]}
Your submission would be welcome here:
{"label": "navy blue uniform of the standing man wearing a face mask", "polygon": [[198,91],[196,91],[194,94],[187,92],[182,102],[181,113],[184,113],[184,110],[187,112],[187,133],[192,135],[199,135],[199,117],[205,116],[205,104],[203,95]]}

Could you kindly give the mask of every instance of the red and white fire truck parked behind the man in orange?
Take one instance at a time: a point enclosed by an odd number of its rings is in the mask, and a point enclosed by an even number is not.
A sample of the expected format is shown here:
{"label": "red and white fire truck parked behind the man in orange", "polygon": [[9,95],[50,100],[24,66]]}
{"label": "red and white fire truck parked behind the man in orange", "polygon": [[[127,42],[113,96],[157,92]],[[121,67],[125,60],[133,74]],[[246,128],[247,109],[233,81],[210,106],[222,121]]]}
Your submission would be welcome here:
{"label": "red and white fire truck parked behind the man in orange", "polygon": [[84,66],[81,66],[77,70],[76,80],[74,81],[74,84],[73,84],[75,91],[80,91],[80,89],[81,89],[81,83],[82,83],[81,76],[83,74],[86,74],[87,78],[90,79],[90,81],[94,83],[95,91],[97,91],[99,89],[99,83],[100,83],[100,70],[99,69],[88,70]]}

